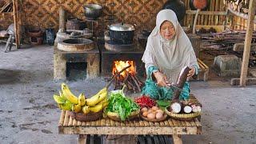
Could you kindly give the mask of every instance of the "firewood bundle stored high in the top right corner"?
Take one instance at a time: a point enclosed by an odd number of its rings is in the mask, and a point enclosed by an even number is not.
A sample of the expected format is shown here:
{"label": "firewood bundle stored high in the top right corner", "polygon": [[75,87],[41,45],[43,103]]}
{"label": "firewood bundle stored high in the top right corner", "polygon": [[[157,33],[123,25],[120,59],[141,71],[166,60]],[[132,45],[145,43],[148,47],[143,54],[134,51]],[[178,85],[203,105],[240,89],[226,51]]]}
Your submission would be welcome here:
{"label": "firewood bundle stored high in the top right corner", "polygon": [[230,7],[230,9],[246,14],[249,10],[249,2],[250,0],[224,0],[224,3]]}

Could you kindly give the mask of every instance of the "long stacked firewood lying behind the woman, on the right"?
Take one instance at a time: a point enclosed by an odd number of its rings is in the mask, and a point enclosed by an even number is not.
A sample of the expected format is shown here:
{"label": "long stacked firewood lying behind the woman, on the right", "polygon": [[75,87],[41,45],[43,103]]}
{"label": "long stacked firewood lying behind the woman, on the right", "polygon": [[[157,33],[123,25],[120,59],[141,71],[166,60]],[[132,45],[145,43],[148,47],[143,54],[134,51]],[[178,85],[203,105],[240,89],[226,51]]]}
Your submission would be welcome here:
{"label": "long stacked firewood lying behind the woman, on the right", "polygon": [[[243,43],[246,30],[225,30],[222,33],[201,34],[202,50],[232,50],[235,43]],[[252,43],[256,42],[256,31],[252,35]]]}

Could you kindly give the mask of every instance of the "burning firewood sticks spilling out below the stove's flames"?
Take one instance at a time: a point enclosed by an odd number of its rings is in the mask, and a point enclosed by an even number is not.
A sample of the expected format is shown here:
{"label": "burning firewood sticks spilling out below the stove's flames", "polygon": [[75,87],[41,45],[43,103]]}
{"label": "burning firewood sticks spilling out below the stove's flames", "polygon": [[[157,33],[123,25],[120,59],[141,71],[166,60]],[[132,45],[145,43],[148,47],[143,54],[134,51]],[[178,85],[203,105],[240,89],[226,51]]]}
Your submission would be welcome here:
{"label": "burning firewood sticks spilling out below the stove's flames", "polygon": [[143,82],[138,79],[136,74],[130,74],[125,71],[125,76],[118,75],[118,77],[114,78],[114,90],[122,89],[122,86],[126,85],[128,90],[134,91],[134,93],[138,93],[142,91]]}

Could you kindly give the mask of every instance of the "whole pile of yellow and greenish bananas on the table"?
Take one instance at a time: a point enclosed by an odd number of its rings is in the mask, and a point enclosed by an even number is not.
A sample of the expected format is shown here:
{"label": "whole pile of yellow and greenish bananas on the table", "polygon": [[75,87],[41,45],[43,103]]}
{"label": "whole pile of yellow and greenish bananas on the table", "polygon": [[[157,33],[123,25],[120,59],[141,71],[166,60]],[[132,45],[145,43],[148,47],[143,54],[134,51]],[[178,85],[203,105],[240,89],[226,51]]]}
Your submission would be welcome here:
{"label": "whole pile of yellow and greenish bananas on the table", "polygon": [[76,113],[97,113],[109,104],[107,101],[106,87],[100,90],[98,94],[86,99],[84,94],[80,94],[76,97],[70,91],[69,86],[62,83],[62,91],[60,91],[59,94],[59,96],[54,94],[54,100],[58,103],[59,108],[62,110],[72,110]]}

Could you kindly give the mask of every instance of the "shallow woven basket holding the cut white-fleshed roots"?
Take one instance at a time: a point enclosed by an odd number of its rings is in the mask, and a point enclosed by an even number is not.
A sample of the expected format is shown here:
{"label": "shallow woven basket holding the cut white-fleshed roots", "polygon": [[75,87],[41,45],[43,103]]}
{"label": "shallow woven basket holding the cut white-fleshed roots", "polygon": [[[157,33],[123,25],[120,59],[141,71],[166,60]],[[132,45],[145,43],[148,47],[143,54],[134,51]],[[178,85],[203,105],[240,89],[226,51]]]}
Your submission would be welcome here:
{"label": "shallow woven basket holding the cut white-fleshed roots", "polygon": [[168,114],[170,116],[170,118],[174,118],[177,120],[181,120],[181,121],[191,121],[194,118],[198,118],[198,116],[201,115],[201,112],[197,112],[197,113],[190,113],[190,114],[175,114],[171,111],[169,111],[169,107],[166,107],[166,114]]}

